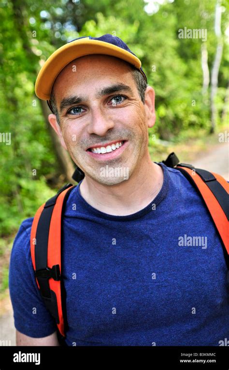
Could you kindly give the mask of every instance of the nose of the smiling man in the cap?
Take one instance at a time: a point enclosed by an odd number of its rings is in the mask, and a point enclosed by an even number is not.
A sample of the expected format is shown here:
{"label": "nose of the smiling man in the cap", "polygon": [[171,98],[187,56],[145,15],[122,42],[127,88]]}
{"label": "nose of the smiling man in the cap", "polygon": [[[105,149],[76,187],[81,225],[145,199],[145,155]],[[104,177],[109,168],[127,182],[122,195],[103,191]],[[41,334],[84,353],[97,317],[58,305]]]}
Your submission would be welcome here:
{"label": "nose of the smiling man in the cap", "polygon": [[96,134],[99,136],[104,136],[109,129],[115,126],[115,123],[111,116],[100,109],[100,107],[95,107],[92,109],[92,114],[90,118],[90,124],[88,125],[87,131],[89,134]]}

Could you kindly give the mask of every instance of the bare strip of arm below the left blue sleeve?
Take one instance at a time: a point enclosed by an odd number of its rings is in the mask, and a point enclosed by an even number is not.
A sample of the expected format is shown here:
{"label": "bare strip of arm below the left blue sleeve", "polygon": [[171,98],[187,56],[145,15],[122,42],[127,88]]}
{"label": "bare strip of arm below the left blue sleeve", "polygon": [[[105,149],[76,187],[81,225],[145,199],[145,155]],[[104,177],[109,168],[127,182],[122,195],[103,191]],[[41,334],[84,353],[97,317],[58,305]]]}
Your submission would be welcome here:
{"label": "bare strip of arm below the left blue sleeve", "polygon": [[16,330],[16,346],[59,346],[57,332],[43,338],[32,338]]}

